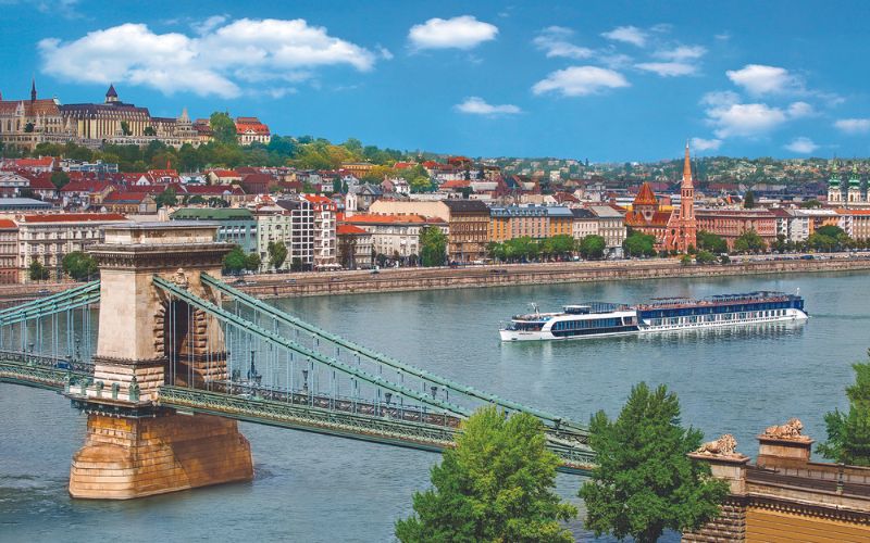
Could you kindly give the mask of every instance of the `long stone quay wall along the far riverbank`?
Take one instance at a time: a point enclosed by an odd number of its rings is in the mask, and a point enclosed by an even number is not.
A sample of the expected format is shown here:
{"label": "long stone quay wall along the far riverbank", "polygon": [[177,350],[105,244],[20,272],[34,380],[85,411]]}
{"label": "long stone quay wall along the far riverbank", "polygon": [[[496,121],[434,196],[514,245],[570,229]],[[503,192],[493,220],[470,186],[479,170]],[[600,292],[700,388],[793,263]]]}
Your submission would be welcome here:
{"label": "long stone quay wall along the far riverbank", "polygon": [[[265,279],[241,290],[258,298],[293,298],[369,292],[402,292],[434,289],[510,287],[568,282],[622,281],[673,277],[725,277],[870,270],[870,258],[816,261],[759,261],[726,265],[684,266],[676,261],[630,263],[551,263],[471,268],[396,269],[380,274],[311,274],[294,279]],[[272,276],[281,277],[281,276]],[[284,276],[287,277],[287,276]],[[262,278],[262,279],[261,279]]]}

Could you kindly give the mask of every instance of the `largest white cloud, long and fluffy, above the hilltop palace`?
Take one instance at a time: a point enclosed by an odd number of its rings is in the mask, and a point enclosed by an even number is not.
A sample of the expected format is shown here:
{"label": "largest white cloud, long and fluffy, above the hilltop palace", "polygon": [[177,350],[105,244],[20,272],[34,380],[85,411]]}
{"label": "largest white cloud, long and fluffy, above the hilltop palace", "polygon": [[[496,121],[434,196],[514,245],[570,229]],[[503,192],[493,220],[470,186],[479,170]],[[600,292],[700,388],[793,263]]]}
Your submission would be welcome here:
{"label": "largest white cloud, long and fluffy, above the hilltop palace", "polygon": [[[208,20],[207,20],[208,22]],[[208,35],[156,34],[127,23],[73,41],[39,41],[42,72],[79,83],[123,83],[233,98],[248,78],[299,81],[320,66],[348,65],[365,72],[376,54],[297,20],[213,20]],[[204,24],[204,23],[203,23]],[[216,25],[216,26],[215,26]]]}

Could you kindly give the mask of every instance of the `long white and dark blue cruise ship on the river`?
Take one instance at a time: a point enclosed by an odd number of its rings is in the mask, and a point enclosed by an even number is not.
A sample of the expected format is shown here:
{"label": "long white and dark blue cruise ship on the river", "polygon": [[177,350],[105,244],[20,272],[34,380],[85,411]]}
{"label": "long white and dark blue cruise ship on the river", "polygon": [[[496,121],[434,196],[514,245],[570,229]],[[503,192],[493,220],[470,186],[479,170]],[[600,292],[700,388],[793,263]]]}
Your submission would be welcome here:
{"label": "long white and dark blue cruise ship on the river", "polygon": [[515,315],[499,333],[502,341],[566,340],[743,326],[809,318],[798,293],[747,292],[700,300],[657,298],[637,305],[584,303],[560,313]]}

